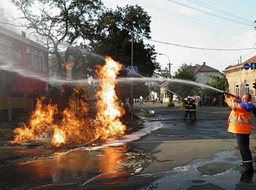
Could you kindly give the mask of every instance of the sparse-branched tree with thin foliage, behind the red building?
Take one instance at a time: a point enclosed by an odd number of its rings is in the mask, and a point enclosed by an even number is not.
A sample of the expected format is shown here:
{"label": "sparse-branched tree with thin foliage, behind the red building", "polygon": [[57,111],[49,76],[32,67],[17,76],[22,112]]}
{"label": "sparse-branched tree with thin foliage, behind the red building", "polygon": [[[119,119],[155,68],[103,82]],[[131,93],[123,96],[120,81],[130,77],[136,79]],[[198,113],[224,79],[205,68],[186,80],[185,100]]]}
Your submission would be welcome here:
{"label": "sparse-branched tree with thin foliage, behind the red building", "polygon": [[[41,36],[57,64],[57,76],[65,76],[65,47],[76,45],[94,33],[95,20],[101,11],[100,0],[12,0],[23,13],[23,26]],[[35,5],[36,4],[36,5]],[[38,11],[34,11],[38,9]],[[69,49],[68,49],[69,50]],[[69,51],[65,53],[69,54]]]}

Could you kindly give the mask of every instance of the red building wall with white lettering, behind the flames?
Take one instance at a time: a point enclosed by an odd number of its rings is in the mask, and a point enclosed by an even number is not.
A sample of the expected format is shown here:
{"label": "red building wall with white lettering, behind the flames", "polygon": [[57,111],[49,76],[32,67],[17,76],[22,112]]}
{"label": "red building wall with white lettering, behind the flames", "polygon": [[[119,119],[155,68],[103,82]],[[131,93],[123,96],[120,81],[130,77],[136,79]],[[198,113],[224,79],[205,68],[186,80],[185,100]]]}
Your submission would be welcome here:
{"label": "red building wall with white lettering, behind the flames", "polygon": [[36,97],[49,92],[48,49],[4,27],[0,27],[0,69],[15,72],[16,78],[10,92],[0,89],[0,121],[8,117],[10,121],[10,111],[13,118],[31,112]]}

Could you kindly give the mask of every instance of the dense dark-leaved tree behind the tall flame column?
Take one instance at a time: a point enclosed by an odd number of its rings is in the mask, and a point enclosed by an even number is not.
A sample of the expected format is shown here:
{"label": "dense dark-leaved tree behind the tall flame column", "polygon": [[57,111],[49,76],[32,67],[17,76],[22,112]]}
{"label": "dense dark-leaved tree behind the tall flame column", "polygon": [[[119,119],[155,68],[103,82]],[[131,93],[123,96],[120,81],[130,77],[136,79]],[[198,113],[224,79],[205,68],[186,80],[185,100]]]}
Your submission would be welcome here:
{"label": "dense dark-leaved tree behind the tall flame column", "polygon": [[[143,42],[143,38],[150,38],[150,22],[150,17],[140,6],[106,9],[97,21],[96,35],[90,40],[90,50],[100,55],[109,55],[127,68],[132,62],[133,44],[133,66],[138,67],[139,75],[151,77],[160,67],[156,62],[154,46]],[[127,77],[127,70],[124,69],[120,76]],[[145,84],[138,82],[134,82],[134,86],[134,89],[143,86],[143,92],[147,89]],[[127,83],[118,84],[116,91],[119,97],[127,97],[130,86]]]}

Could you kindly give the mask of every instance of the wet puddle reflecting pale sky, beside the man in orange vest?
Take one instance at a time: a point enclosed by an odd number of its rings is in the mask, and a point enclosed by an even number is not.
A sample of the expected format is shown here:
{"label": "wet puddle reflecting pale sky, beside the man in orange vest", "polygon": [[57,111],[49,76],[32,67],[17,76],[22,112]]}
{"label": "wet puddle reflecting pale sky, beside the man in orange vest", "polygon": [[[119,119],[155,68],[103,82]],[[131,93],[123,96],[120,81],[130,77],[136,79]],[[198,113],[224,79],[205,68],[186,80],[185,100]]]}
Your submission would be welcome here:
{"label": "wet puddle reflecting pale sky, beside the man in orange vest", "polygon": [[242,176],[237,166],[241,162],[232,151],[214,154],[208,159],[196,159],[166,172],[161,179],[141,190],[234,190],[255,189],[256,174]]}

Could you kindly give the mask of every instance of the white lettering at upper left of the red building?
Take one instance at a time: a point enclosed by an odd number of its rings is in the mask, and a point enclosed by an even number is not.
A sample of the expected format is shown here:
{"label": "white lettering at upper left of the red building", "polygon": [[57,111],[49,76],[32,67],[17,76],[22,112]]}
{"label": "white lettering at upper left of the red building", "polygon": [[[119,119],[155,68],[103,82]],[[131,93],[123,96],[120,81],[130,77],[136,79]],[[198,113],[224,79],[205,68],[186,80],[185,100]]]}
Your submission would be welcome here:
{"label": "white lettering at upper left of the red building", "polygon": [[0,54],[21,59],[21,52],[13,49],[12,46],[13,44],[10,40],[0,38]]}

